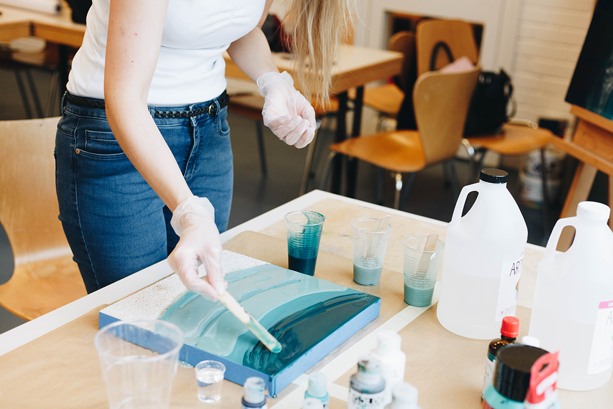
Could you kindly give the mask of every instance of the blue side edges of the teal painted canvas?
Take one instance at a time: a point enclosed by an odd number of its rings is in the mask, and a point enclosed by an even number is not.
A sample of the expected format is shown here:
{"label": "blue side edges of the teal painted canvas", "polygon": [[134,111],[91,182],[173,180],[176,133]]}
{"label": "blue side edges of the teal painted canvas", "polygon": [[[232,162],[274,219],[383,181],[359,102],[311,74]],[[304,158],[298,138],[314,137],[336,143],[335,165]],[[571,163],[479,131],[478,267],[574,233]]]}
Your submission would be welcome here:
{"label": "blue side edges of the teal painted canvas", "polygon": [[[205,361],[206,359],[221,362],[226,365],[224,379],[239,385],[244,384],[245,380],[249,377],[262,378],[266,382],[268,396],[274,397],[278,392],[283,390],[283,388],[313,367],[314,364],[321,361],[323,357],[335,350],[341,343],[351,338],[352,335],[356,334],[356,332],[367,326],[373,319],[377,318],[380,309],[381,299],[378,298],[376,302],[366,307],[362,312],[358,313],[343,324],[343,326],[324,338],[324,340],[313,346],[313,348],[303,354],[303,356],[297,359],[292,365],[289,365],[289,367],[273,376],[229,361],[228,359],[200,350],[191,345],[183,345],[179,353],[179,359],[188,362],[190,365],[196,365],[198,362]],[[99,328],[114,323],[115,321],[120,321],[120,319],[99,312]]]}

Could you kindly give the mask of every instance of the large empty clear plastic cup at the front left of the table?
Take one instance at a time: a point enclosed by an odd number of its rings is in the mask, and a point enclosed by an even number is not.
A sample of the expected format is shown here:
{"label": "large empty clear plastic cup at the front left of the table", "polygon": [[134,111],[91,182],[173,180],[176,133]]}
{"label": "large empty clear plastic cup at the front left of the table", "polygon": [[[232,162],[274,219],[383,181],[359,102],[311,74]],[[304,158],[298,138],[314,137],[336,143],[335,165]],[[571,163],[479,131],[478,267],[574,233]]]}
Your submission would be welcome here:
{"label": "large empty clear plastic cup at the front left of the table", "polygon": [[177,326],[159,320],[117,321],[98,331],[94,344],[110,409],[169,407],[183,347]]}

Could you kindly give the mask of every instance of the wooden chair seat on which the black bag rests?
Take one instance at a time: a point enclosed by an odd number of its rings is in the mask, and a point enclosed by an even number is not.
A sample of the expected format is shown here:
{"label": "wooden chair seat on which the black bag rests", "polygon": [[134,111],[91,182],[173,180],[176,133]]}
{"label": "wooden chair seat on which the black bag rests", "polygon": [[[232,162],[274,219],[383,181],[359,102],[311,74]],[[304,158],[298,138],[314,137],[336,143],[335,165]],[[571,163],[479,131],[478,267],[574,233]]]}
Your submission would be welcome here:
{"label": "wooden chair seat on which the black bag rests", "polygon": [[466,139],[474,147],[482,147],[502,155],[524,155],[543,148],[552,137],[553,134],[547,129],[504,124],[501,134],[467,137]]}

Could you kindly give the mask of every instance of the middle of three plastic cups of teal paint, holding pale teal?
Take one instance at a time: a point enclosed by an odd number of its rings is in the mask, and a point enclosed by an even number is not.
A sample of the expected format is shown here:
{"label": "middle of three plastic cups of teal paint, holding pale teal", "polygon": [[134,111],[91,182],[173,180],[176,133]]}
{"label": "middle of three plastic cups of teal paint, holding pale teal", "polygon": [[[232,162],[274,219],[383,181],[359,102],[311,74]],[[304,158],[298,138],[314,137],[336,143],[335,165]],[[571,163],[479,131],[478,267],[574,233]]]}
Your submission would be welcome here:
{"label": "middle of three plastic cups of teal paint, holding pale teal", "polygon": [[351,222],[353,229],[353,281],[359,285],[374,286],[381,280],[381,270],[392,224],[381,231],[381,219],[364,217]]}

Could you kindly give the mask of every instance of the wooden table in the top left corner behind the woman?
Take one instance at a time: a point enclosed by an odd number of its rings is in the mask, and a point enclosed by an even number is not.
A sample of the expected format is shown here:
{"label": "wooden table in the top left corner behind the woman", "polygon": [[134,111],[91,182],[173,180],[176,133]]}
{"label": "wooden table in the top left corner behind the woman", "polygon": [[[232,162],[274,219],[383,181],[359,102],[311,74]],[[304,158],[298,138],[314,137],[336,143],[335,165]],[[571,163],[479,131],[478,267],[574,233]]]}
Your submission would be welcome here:
{"label": "wooden table in the top left corner behind the woman", "polygon": [[59,45],[59,84],[63,94],[68,83],[68,47],[81,47],[85,25],[74,23],[67,7],[58,15],[2,5],[0,12],[0,41],[36,36]]}

